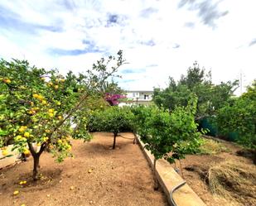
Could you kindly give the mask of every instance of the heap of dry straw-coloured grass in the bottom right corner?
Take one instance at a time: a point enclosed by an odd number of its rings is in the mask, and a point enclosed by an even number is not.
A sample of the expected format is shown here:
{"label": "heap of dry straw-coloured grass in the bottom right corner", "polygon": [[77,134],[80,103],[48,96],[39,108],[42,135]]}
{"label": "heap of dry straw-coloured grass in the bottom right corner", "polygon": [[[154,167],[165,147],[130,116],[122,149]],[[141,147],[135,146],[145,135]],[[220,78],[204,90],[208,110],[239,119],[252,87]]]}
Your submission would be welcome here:
{"label": "heap of dry straw-coloured grass in the bottom right corner", "polygon": [[210,191],[229,205],[256,205],[256,166],[225,160],[210,167],[208,181]]}

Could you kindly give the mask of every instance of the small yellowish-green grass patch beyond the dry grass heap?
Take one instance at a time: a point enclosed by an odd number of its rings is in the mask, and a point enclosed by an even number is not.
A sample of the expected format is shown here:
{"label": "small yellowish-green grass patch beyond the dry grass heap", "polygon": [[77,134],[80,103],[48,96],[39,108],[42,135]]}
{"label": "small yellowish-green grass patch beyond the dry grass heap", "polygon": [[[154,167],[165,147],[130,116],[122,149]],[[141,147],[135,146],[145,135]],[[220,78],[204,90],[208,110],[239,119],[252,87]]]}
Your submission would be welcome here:
{"label": "small yellowish-green grass patch beyond the dry grass heap", "polygon": [[215,155],[228,149],[218,141],[211,139],[203,139],[203,144],[200,146],[200,154]]}

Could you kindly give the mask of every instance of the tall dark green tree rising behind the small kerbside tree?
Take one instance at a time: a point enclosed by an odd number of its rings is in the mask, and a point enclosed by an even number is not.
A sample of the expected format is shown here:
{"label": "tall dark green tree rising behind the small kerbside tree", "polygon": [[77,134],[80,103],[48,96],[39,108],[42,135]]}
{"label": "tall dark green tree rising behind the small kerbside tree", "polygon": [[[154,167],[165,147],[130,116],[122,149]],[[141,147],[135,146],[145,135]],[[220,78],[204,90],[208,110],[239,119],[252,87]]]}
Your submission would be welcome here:
{"label": "tall dark green tree rising behind the small kerbside tree", "polygon": [[215,114],[219,108],[225,106],[237,85],[237,81],[212,84],[210,72],[205,73],[205,69],[200,69],[195,62],[187,70],[186,76],[182,75],[177,83],[170,78],[167,89],[155,89],[153,100],[158,107],[173,110],[176,106],[186,106],[190,94],[196,93],[196,119],[200,119]]}

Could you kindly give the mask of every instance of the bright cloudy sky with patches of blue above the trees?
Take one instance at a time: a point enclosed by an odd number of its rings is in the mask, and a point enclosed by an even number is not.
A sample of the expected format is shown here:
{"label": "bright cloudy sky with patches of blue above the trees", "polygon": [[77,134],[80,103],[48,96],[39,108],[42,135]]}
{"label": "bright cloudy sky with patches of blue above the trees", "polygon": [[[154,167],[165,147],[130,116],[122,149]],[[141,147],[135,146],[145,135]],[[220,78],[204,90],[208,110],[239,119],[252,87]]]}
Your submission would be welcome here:
{"label": "bright cloudy sky with patches of blue above the trees", "polygon": [[83,73],[123,50],[123,89],[165,88],[195,60],[215,84],[242,78],[245,87],[256,79],[255,8],[255,0],[1,0],[0,58]]}

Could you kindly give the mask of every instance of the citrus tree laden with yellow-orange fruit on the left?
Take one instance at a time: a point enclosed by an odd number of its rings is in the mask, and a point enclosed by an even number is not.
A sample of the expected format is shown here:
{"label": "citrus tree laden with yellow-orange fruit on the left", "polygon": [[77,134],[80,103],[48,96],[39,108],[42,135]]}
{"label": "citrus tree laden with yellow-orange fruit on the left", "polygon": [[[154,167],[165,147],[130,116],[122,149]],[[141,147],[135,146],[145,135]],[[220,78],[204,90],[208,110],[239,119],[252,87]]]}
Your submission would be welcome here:
{"label": "citrus tree laden with yellow-orange fruit on the left", "polygon": [[[109,68],[110,61],[115,64]],[[86,75],[70,72],[64,77],[57,70],[38,69],[24,60],[1,60],[0,144],[13,143],[14,149],[31,153],[32,178],[37,180],[43,151],[51,151],[62,161],[72,156],[71,137],[90,139],[87,114],[101,96],[96,91],[123,62],[119,51],[118,59],[101,59]]]}

